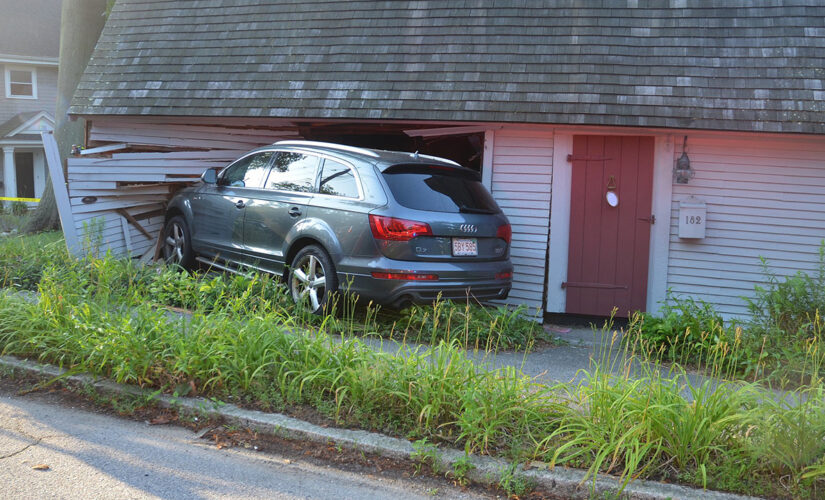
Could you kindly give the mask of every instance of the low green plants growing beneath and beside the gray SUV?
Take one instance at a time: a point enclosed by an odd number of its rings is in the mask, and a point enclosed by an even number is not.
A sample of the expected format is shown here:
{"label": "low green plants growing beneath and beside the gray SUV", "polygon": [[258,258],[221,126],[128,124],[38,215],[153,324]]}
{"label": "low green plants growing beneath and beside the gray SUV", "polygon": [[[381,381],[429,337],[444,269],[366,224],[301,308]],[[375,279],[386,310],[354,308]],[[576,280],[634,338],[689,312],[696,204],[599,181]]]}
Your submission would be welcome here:
{"label": "low green plants growing beneath and beside the gray SUV", "polygon": [[[176,267],[144,267],[115,258],[75,260],[67,255],[59,233],[6,237],[0,240],[0,286],[35,291],[45,269],[74,280],[74,286],[105,293],[112,301],[149,302],[158,307],[183,308],[194,313],[227,312],[230,304],[246,302],[243,312],[265,303],[280,321],[326,333],[379,336],[404,342],[437,343],[456,340],[477,349],[529,349],[538,341],[551,342],[525,308],[490,308],[474,303],[436,301],[403,311],[357,304],[342,295],[331,301],[328,314],[316,316],[293,304],[286,287],[268,274],[199,272]],[[96,245],[87,242],[90,253]]]}

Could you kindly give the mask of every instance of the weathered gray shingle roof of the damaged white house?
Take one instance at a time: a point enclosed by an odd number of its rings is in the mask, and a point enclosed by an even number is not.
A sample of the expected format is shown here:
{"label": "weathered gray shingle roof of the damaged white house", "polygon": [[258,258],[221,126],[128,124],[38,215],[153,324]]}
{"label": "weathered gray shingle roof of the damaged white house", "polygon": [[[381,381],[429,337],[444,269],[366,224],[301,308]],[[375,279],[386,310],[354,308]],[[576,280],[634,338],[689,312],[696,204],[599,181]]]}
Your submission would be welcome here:
{"label": "weathered gray shingle roof of the damaged white house", "polygon": [[822,134],[823,85],[822,0],[118,0],[70,113]]}

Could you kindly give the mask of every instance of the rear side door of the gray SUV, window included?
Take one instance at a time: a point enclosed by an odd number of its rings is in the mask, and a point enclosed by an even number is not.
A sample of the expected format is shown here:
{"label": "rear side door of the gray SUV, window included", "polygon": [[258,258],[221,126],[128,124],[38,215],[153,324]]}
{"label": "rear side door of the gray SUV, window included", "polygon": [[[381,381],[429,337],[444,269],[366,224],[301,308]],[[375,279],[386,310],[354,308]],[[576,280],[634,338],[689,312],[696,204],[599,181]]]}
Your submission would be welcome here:
{"label": "rear side door of the gray SUV, window included", "polygon": [[264,187],[249,200],[244,220],[245,263],[281,272],[285,238],[306,217],[315,192],[320,158],[303,152],[278,151]]}

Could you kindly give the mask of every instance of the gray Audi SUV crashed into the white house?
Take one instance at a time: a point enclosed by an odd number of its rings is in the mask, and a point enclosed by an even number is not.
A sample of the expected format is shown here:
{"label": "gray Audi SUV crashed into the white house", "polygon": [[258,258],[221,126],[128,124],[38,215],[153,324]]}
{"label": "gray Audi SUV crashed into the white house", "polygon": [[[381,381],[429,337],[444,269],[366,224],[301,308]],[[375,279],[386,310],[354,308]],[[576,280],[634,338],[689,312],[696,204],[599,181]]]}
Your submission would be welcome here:
{"label": "gray Audi SUV crashed into the white house", "polygon": [[450,160],[281,141],[201,179],[166,212],[163,256],[184,268],[283,275],[313,312],[337,290],[394,307],[510,291],[507,217]]}

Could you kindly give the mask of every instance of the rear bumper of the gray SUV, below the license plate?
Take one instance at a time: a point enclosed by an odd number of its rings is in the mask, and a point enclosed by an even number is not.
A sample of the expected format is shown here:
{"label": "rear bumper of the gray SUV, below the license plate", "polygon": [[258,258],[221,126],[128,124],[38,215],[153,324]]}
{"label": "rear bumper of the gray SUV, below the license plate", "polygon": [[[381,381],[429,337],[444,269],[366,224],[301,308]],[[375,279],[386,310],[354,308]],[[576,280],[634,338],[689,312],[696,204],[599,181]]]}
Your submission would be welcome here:
{"label": "rear bumper of the gray SUV, below the license plate", "polygon": [[[479,301],[506,299],[513,281],[496,278],[510,273],[513,265],[509,259],[492,262],[411,262],[381,258],[370,262],[369,273],[341,273],[341,290],[358,294],[359,297],[378,304],[400,307],[405,303],[426,303],[441,298],[446,300]],[[407,281],[373,278],[372,272],[412,272],[435,274],[438,280]]]}

